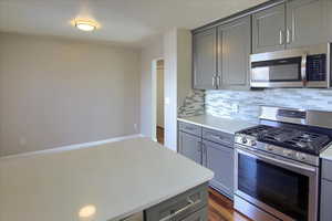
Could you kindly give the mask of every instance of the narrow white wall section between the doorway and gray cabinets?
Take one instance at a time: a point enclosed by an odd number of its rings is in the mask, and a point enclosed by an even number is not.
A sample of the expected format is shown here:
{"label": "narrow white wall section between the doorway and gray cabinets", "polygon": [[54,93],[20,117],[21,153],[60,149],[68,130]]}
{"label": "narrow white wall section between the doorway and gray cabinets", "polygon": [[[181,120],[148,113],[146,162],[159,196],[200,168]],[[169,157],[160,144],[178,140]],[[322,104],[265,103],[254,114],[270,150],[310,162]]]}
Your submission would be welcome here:
{"label": "narrow white wall section between the doorway and gray cabinets", "polygon": [[165,146],[177,150],[177,109],[191,91],[191,34],[173,29],[164,35]]}

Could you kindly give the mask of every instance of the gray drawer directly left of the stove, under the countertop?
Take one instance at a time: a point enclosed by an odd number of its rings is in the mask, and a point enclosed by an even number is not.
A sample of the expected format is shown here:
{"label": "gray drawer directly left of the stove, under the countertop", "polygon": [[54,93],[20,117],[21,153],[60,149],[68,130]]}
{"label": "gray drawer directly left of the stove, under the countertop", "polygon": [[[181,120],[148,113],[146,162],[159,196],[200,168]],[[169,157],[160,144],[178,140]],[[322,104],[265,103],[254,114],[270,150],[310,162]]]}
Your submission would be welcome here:
{"label": "gray drawer directly left of the stove, under the countertop", "polygon": [[203,139],[215,141],[229,147],[234,146],[234,135],[203,128]]}

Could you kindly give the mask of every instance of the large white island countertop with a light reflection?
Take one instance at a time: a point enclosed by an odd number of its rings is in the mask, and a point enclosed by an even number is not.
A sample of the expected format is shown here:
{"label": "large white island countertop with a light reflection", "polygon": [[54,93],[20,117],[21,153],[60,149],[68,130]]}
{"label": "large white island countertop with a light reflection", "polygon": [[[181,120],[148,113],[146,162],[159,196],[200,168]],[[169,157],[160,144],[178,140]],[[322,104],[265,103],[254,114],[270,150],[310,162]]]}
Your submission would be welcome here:
{"label": "large white island countertop with a light reflection", "polygon": [[[142,211],[214,173],[135,138],[63,152],[0,159],[0,221],[108,221]],[[96,209],[80,219],[85,206]]]}

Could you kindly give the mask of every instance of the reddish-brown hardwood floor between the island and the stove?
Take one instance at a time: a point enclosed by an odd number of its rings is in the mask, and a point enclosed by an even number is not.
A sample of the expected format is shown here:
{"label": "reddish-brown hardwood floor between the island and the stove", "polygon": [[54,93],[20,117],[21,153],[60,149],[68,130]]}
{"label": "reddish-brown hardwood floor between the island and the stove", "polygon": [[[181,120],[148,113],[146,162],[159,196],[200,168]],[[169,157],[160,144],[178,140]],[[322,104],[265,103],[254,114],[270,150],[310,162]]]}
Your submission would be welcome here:
{"label": "reddish-brown hardwood floor between the island and the stove", "polygon": [[232,208],[232,201],[209,189],[208,221],[252,221]]}

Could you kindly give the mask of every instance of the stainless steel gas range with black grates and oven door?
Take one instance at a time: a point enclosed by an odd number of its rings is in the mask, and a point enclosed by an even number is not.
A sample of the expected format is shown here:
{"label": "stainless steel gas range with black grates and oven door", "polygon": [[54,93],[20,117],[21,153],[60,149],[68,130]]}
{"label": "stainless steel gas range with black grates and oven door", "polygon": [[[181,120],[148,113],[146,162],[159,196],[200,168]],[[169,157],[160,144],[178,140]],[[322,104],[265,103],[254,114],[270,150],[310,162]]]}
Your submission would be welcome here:
{"label": "stainless steel gas range with black grates and oven door", "polygon": [[236,134],[235,208],[255,221],[317,221],[319,155],[332,113],[261,107],[260,125]]}

